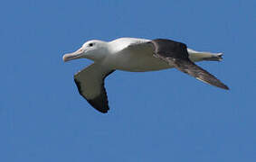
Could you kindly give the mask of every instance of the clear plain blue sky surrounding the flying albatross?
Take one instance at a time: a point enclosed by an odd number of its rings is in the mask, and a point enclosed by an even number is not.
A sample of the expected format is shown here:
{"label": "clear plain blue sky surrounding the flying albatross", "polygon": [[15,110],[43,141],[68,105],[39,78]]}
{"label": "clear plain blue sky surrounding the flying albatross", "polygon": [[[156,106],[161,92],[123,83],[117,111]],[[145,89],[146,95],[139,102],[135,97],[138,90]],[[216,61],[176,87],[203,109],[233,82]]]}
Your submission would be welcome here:
{"label": "clear plain blue sky surrounding the flying albatross", "polygon": [[[0,6],[2,162],[256,161],[256,1],[4,1]],[[224,91],[168,69],[116,71],[95,111],[62,62],[86,40],[166,38],[224,52],[202,62]],[[174,86],[175,85],[175,86]]]}

